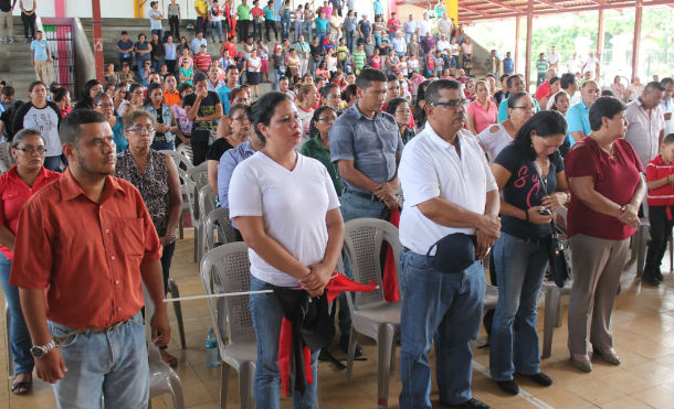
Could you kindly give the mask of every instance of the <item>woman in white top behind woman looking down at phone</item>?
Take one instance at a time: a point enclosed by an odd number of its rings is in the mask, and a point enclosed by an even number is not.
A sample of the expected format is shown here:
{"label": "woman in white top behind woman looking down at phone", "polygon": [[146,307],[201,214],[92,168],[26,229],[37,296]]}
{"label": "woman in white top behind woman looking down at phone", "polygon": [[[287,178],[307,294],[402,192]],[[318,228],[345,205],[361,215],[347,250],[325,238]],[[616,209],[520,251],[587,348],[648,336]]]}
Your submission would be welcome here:
{"label": "woman in white top behind woman looking down at phone", "polygon": [[503,148],[513,142],[517,131],[536,112],[534,99],[527,93],[515,93],[508,98],[508,119],[494,123],[477,134],[480,146],[494,163]]}

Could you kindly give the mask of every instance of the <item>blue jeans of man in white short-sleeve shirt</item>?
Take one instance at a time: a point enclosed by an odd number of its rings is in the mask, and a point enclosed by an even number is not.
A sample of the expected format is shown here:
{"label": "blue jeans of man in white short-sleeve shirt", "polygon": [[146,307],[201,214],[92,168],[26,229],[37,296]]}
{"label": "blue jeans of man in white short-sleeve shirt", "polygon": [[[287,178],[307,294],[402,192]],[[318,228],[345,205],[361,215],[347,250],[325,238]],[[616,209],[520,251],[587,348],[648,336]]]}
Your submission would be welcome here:
{"label": "blue jeans of man in white short-sleeve shirt", "polygon": [[473,353],[484,303],[485,277],[475,261],[461,273],[434,270],[425,255],[401,255],[400,316],[401,408],[431,408],[429,352],[435,341],[440,401],[460,405],[471,399]]}

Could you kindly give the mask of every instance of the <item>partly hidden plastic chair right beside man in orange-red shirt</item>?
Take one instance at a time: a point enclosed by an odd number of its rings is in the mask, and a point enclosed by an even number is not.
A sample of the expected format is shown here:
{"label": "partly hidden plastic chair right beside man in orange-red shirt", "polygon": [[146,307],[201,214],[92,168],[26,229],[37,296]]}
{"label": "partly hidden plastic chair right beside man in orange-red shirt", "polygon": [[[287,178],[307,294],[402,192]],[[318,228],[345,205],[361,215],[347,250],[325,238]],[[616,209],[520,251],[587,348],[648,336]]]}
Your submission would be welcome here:
{"label": "partly hidden plastic chair right beside man in orange-red shirt", "polygon": [[155,304],[150,299],[145,284],[143,284],[145,295],[145,329],[147,338],[147,355],[150,366],[150,399],[165,394],[170,394],[173,400],[173,408],[185,408],[182,397],[182,384],[178,374],[161,360],[159,348],[151,342],[150,317],[155,313]]}

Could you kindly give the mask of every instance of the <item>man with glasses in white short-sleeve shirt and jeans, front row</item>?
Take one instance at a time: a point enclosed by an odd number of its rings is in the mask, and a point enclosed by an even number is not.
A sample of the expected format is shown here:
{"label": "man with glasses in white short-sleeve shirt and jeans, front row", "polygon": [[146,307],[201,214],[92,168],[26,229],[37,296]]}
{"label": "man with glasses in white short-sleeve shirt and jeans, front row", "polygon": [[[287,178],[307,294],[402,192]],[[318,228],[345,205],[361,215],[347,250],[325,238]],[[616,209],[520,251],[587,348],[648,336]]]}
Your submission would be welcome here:
{"label": "man with glasses in white short-sleeve shirt and jeans, front row", "polygon": [[[480,331],[485,292],[478,259],[501,232],[498,187],[480,144],[463,129],[461,84],[435,80],[425,98],[425,128],[406,146],[399,169],[404,195],[400,407],[431,407],[428,356],[434,341],[441,405],[484,409],[471,394],[470,341]],[[459,271],[435,270],[426,254],[454,233],[475,236],[477,260]]]}

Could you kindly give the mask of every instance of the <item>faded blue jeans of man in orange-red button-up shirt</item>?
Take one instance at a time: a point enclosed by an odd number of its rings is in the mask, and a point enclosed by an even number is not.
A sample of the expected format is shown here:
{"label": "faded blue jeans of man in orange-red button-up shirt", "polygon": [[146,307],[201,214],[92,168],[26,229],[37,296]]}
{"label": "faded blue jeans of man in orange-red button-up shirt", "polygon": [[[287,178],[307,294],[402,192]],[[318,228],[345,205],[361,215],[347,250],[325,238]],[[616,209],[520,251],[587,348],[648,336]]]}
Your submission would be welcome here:
{"label": "faded blue jeans of man in orange-red button-up shirt", "polygon": [[[52,336],[75,329],[46,322]],[[150,394],[140,311],[109,333],[84,332],[59,346],[67,373],[53,385],[57,408],[147,408]]]}

